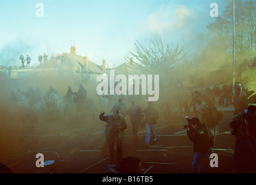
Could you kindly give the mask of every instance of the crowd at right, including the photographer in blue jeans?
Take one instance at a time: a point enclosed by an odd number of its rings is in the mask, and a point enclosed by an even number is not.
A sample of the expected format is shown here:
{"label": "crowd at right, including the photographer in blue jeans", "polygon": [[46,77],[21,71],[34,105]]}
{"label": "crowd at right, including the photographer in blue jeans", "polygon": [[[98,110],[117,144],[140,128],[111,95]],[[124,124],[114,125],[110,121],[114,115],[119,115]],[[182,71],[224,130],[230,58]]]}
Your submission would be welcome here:
{"label": "crowd at right, including the photographer in blue jeans", "polygon": [[[248,106],[246,94],[239,82],[233,88],[218,86],[212,88],[212,93],[201,94],[194,91],[192,96],[194,117],[188,119],[188,137],[194,143],[193,170],[200,173],[200,163],[205,156],[214,152],[216,136],[219,134],[219,121],[223,114],[217,111],[219,97],[223,97],[223,107],[233,104],[235,111],[230,120],[230,131],[236,136],[235,154],[232,173],[256,172],[256,107]],[[230,101],[228,101],[230,99]]]}

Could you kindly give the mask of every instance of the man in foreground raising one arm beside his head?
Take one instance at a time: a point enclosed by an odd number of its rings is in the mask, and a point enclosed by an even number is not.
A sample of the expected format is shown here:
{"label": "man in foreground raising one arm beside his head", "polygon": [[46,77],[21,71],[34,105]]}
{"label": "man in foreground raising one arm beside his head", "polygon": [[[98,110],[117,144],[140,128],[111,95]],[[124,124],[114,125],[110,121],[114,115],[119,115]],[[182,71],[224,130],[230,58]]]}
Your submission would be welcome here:
{"label": "man in foreground raising one arm beside his head", "polygon": [[113,114],[104,116],[104,111],[99,115],[99,119],[107,123],[104,134],[107,143],[109,144],[109,156],[111,163],[114,163],[114,143],[117,145],[117,162],[122,159],[122,138],[124,129],[127,128],[124,117],[122,117],[118,110],[113,110]]}

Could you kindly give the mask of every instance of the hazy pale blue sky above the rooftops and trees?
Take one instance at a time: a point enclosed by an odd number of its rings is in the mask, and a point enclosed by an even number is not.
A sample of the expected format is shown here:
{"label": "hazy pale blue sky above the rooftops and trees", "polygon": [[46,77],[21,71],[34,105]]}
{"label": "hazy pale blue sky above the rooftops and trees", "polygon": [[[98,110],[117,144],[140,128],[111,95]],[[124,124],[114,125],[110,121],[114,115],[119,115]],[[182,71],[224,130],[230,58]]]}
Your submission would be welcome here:
{"label": "hazy pale blue sky above the rooftops and trees", "polygon": [[77,54],[98,65],[104,59],[112,68],[132,57],[130,52],[136,53],[136,40],[149,47],[151,40],[160,38],[165,46],[184,48],[190,59],[207,45],[207,24],[216,18],[210,16],[211,3],[217,3],[222,16],[228,2],[1,0],[0,65],[19,66],[21,54],[38,65],[38,54],[69,53],[75,45]]}

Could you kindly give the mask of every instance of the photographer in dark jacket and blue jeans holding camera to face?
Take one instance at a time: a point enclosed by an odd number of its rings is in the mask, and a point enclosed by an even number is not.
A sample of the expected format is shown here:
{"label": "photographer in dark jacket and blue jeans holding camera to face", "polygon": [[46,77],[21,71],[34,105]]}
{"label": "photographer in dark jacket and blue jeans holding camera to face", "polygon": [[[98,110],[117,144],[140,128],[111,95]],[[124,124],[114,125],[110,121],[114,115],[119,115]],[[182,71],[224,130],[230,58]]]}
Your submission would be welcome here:
{"label": "photographer in dark jacket and blue jeans holding camera to face", "polygon": [[204,124],[200,123],[197,117],[188,119],[189,125],[185,128],[189,139],[193,142],[194,146],[194,158],[192,167],[194,173],[201,173],[200,166],[205,156],[208,156],[210,149],[210,138],[208,135],[207,128]]}

